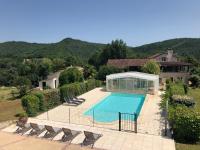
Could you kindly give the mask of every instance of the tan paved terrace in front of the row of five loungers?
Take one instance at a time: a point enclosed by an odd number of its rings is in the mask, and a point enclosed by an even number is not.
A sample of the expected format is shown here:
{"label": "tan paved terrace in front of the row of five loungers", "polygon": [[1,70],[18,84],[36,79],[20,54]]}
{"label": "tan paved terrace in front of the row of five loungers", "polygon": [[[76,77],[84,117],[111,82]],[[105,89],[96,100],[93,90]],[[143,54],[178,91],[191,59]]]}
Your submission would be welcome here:
{"label": "tan paved terrace in front of the row of five loungers", "polygon": [[91,148],[0,131],[0,150],[91,150]]}

